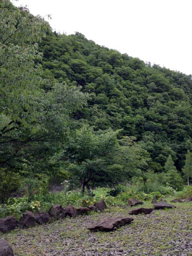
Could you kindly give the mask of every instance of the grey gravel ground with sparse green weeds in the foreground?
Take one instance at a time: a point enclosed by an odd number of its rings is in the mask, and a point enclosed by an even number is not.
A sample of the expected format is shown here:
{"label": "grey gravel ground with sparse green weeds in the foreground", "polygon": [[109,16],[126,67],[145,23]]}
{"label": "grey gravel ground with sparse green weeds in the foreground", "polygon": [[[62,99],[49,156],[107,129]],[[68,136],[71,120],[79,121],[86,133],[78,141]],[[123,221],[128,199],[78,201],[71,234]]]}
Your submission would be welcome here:
{"label": "grey gravel ground with sparse green weeds in the foreground", "polygon": [[130,208],[66,218],[0,238],[12,245],[15,256],[192,256],[192,203],[175,205],[176,209],[133,216],[134,222],[114,232],[90,232],[86,227],[101,218],[129,216]]}

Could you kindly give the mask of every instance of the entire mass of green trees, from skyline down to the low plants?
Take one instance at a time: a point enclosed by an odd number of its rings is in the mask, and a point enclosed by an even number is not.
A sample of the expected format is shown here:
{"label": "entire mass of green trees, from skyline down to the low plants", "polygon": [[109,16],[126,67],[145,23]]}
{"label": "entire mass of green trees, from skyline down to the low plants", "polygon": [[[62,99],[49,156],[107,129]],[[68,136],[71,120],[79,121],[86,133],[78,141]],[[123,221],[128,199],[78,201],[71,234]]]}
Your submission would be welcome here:
{"label": "entire mass of green trees, from skyline down to the low plants", "polygon": [[22,184],[46,193],[64,179],[181,189],[183,170],[189,182],[191,76],[52,32],[9,0],[0,33],[1,202]]}

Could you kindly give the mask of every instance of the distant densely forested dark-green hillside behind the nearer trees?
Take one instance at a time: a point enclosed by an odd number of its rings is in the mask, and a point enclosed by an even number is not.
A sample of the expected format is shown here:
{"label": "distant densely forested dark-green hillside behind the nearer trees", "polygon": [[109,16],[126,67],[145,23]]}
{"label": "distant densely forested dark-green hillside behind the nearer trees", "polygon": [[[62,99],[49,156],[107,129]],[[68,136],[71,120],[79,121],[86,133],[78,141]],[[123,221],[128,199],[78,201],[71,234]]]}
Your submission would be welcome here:
{"label": "distant densely forested dark-green hillside behind the nearer trees", "polygon": [[145,64],[78,32],[48,33],[40,51],[43,78],[82,86],[92,95],[76,119],[87,120],[95,130],[123,128],[121,134],[135,136],[150,152],[150,168],[162,171],[171,154],[181,170],[192,148],[191,76]]}

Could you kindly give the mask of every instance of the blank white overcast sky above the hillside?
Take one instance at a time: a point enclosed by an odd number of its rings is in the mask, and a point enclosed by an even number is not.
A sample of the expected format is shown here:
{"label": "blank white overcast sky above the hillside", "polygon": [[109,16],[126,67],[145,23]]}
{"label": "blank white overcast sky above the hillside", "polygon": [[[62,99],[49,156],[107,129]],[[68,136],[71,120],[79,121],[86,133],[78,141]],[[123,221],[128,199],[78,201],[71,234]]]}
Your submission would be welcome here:
{"label": "blank white overcast sky above the hillside", "polygon": [[[18,0],[60,33],[192,74],[192,0]],[[46,18],[47,20],[47,18]]]}

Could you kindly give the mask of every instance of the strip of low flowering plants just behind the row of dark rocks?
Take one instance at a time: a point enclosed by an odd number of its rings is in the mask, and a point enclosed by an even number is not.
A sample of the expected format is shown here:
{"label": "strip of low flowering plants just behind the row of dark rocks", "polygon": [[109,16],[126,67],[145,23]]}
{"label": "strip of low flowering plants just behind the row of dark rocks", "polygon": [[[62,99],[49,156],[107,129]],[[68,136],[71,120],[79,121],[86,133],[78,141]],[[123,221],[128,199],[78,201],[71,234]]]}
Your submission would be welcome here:
{"label": "strip of low flowering plants just behind the row of dark rocks", "polygon": [[[116,197],[110,196],[110,188],[96,188],[94,190],[94,196],[90,196],[88,193],[82,195],[80,191],[73,190],[68,192],[57,192],[47,194],[35,194],[32,198],[23,196],[22,198],[10,198],[6,204],[0,205],[0,218],[6,216],[15,216],[20,218],[25,211],[45,211],[48,212],[50,208],[55,204],[61,204],[63,207],[69,204],[78,207],[88,207],[90,204],[95,204],[100,200],[105,200],[108,206],[120,206],[126,205],[129,198],[138,198],[140,200],[152,200],[154,196],[162,198],[162,194],[159,192],[152,192],[146,194],[142,191],[137,191],[136,188],[128,188],[120,185],[121,191]],[[169,192],[167,194],[172,194]]]}

